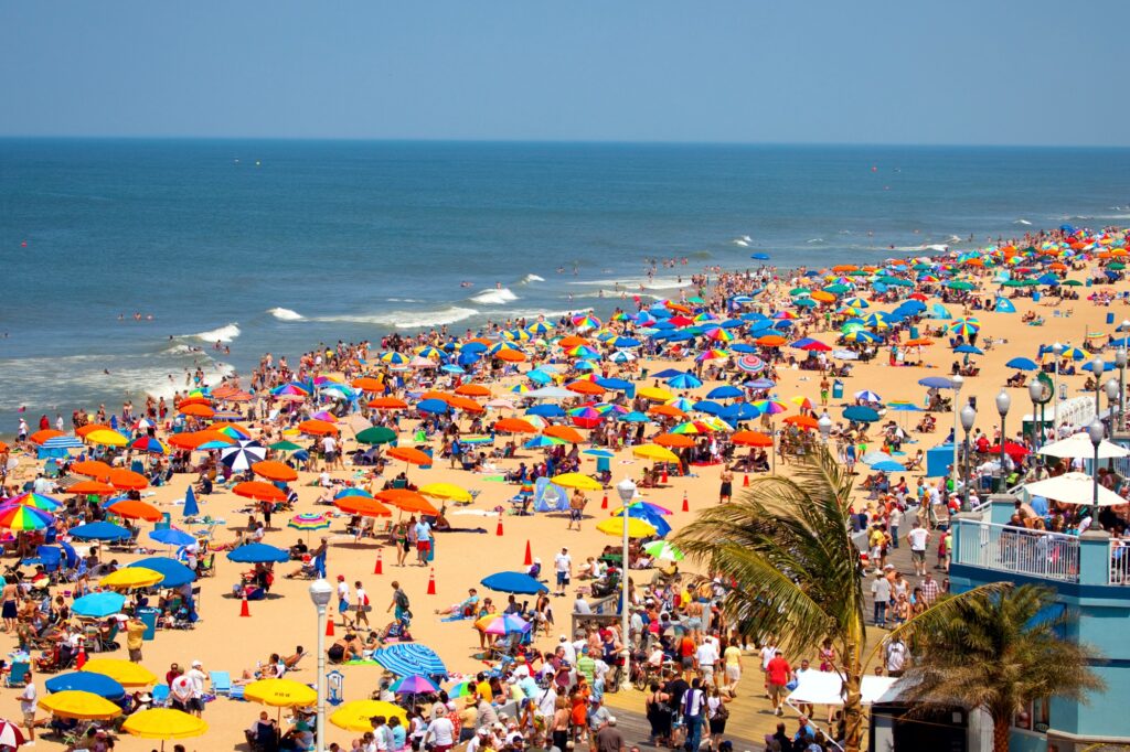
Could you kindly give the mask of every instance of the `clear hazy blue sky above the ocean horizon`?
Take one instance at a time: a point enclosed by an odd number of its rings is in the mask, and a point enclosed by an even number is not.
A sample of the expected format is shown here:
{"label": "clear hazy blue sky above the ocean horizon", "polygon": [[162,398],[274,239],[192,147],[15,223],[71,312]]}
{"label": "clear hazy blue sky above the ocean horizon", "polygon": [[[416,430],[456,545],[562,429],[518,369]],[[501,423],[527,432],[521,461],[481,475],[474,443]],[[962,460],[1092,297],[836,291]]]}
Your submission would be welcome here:
{"label": "clear hazy blue sky above the ocean horizon", "polygon": [[1130,146],[1128,27],[1125,0],[0,0],[0,135]]}

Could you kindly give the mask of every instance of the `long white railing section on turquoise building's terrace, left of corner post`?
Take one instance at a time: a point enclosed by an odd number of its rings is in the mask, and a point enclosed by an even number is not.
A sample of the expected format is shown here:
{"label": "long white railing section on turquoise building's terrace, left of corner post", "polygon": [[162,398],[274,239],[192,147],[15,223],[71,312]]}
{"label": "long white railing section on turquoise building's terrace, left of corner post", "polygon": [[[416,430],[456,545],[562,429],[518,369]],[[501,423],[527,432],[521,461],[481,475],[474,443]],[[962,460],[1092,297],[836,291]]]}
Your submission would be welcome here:
{"label": "long white railing section on turquoise building's terrace, left of corner post", "polygon": [[1079,539],[1075,536],[971,519],[958,521],[958,524],[955,563],[1079,582]]}

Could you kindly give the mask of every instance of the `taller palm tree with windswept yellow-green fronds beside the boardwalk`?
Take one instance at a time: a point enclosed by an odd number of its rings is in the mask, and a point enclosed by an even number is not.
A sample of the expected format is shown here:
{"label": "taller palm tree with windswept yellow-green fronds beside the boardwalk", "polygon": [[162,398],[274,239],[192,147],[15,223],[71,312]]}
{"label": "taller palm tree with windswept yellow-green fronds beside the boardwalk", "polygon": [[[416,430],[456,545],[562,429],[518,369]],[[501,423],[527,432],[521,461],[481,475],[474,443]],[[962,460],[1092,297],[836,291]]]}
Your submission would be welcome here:
{"label": "taller palm tree with windswept yellow-green fronds beside the boardwalk", "polygon": [[[793,655],[832,639],[844,676],[846,752],[858,752],[860,684],[878,646],[864,655],[866,572],[851,537],[851,476],[820,448],[790,478],[757,479],[732,504],[703,510],[675,542],[737,583],[723,609],[744,632],[779,636]],[[939,601],[909,623],[929,622],[965,597]]]}

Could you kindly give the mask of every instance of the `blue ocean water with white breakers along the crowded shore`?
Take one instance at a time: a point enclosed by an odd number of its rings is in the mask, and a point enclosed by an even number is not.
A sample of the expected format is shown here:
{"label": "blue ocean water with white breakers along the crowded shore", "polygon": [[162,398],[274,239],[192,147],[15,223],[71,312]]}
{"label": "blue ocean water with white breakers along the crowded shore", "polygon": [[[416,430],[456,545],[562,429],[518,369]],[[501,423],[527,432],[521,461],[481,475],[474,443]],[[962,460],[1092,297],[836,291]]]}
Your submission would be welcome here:
{"label": "blue ocean water with white breakers along the crowded shore", "polygon": [[[0,140],[0,431],[21,405],[172,393],[197,364],[607,309],[616,282],[667,297],[750,253],[1125,224],[1128,168],[1125,149]],[[646,279],[671,256],[689,263]]]}

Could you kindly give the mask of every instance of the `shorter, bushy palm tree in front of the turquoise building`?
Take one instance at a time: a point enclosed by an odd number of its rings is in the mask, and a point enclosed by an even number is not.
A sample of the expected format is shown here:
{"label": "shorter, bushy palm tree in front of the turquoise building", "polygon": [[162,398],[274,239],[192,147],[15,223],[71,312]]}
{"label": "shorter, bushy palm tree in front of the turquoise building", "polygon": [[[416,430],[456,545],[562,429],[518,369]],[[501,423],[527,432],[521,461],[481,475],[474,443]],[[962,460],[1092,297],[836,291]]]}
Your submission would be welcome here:
{"label": "shorter, bushy palm tree in front of the turquoise building", "polygon": [[1012,716],[1028,702],[1052,696],[1085,702],[1089,691],[1104,687],[1087,666],[1096,654],[1061,635],[1074,618],[1057,613],[1055,591],[1038,585],[965,598],[916,631],[921,657],[906,672],[903,697],[984,708],[992,716],[993,750],[1008,752]]}

